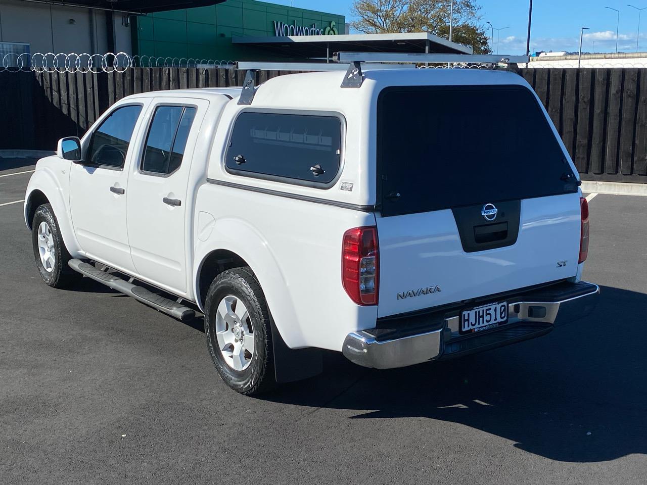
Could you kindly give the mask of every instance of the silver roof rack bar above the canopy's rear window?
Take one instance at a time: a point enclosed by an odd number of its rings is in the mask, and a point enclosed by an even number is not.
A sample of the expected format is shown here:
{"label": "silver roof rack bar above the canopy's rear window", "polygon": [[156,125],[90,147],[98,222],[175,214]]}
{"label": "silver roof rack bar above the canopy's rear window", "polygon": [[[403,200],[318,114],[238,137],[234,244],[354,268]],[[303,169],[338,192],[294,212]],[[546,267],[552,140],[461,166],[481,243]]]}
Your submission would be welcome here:
{"label": "silver roof rack bar above the canopy's rear window", "polygon": [[507,54],[423,54],[422,52],[335,52],[337,62],[404,62],[404,63],[525,63],[528,56]]}

